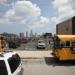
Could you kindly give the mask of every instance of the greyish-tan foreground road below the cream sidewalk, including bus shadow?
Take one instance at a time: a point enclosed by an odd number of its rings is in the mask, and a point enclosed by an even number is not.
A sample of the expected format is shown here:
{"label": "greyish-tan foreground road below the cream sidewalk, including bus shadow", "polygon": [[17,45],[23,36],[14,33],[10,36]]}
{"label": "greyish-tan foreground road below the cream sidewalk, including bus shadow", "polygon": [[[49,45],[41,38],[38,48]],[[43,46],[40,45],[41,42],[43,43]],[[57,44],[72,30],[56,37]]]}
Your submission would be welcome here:
{"label": "greyish-tan foreground road below the cream sidewalk, including bus shadow", "polygon": [[23,59],[23,75],[75,75],[75,62],[58,62],[54,58]]}

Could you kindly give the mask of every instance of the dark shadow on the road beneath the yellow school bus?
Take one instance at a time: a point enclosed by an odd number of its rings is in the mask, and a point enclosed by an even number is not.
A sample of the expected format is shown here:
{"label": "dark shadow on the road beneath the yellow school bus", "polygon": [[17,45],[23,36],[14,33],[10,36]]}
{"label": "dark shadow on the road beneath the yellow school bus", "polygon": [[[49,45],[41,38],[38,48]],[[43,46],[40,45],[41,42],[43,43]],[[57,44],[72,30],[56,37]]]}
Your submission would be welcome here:
{"label": "dark shadow on the road beneath the yellow school bus", "polygon": [[75,66],[75,61],[59,61],[53,57],[45,57],[45,63],[52,66]]}

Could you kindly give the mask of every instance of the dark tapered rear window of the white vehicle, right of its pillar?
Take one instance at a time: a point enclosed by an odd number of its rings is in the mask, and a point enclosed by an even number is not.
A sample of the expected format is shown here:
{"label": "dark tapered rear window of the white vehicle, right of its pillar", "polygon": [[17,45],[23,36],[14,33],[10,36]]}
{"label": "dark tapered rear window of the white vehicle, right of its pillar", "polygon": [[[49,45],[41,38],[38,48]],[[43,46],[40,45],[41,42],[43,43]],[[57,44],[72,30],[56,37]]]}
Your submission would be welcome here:
{"label": "dark tapered rear window of the white vehicle, right of its pillar", "polygon": [[11,73],[13,73],[19,66],[21,60],[18,54],[13,55],[11,58],[8,59],[8,63],[11,69]]}

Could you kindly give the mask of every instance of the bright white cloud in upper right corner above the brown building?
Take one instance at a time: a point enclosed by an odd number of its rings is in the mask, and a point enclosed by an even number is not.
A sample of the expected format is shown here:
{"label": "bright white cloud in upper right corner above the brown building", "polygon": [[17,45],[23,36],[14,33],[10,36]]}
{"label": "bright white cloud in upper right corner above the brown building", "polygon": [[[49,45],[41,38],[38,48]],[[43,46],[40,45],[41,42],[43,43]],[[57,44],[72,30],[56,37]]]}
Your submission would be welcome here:
{"label": "bright white cloud in upper right corner above the brown building", "polygon": [[55,24],[75,16],[75,0],[54,0],[53,6],[58,13],[57,16],[53,16],[51,19]]}

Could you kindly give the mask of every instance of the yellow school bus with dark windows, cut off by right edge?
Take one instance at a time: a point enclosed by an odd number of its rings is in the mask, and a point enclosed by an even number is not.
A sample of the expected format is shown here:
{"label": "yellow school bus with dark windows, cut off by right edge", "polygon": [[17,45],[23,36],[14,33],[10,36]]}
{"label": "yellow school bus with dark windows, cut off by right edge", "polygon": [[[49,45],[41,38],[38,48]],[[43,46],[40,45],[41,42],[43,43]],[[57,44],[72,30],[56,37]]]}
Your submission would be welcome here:
{"label": "yellow school bus with dark windows, cut off by right edge", "polygon": [[54,36],[52,55],[60,61],[75,60],[75,35]]}

